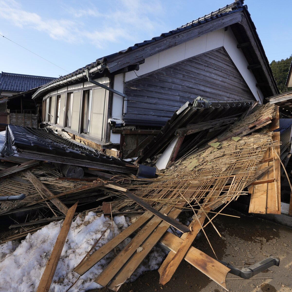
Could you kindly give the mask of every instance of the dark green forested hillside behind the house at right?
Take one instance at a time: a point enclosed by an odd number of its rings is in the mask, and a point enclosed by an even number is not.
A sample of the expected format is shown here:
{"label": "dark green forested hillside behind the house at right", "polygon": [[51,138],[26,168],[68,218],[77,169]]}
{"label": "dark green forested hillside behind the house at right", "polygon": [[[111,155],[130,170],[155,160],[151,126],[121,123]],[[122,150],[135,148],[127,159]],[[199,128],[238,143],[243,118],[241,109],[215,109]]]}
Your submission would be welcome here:
{"label": "dark green forested hillside behind the house at right", "polygon": [[280,61],[273,60],[270,64],[274,78],[277,82],[280,93],[291,91],[292,87],[286,87],[286,80],[292,60],[292,55],[286,60]]}

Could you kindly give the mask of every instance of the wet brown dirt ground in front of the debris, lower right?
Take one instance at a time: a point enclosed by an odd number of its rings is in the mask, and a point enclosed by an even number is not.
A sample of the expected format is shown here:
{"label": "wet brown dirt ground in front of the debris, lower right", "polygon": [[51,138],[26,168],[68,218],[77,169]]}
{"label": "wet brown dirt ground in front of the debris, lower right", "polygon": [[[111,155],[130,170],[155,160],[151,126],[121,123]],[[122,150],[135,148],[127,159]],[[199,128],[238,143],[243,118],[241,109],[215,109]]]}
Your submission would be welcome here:
{"label": "wet brown dirt ground in front of the debris, lower right", "polygon": [[[213,222],[222,238],[218,236],[211,224],[205,229],[219,260],[243,266],[252,265],[268,256],[280,258],[279,267],[273,266],[252,279],[241,279],[228,274],[226,283],[229,291],[292,291],[292,229],[253,216],[245,216],[232,211],[226,211],[226,213],[239,215],[241,218],[221,215],[214,219]],[[214,257],[203,233],[199,233],[193,246]],[[112,290],[107,288],[91,290],[91,292],[109,291]],[[184,261],[165,286],[159,284],[159,273],[156,270],[145,273],[132,283],[122,285],[119,291],[221,292],[225,290]]]}

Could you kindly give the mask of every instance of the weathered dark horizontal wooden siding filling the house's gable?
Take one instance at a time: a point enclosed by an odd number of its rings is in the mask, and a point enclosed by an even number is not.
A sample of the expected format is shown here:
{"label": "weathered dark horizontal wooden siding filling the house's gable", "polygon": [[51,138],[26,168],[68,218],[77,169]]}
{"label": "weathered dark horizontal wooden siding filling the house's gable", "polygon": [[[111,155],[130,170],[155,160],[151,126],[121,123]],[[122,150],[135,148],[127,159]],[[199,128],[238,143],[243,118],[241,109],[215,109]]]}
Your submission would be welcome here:
{"label": "weathered dark horizontal wooden siding filling the house's gable", "polygon": [[127,124],[161,125],[187,101],[254,100],[224,48],[128,81]]}

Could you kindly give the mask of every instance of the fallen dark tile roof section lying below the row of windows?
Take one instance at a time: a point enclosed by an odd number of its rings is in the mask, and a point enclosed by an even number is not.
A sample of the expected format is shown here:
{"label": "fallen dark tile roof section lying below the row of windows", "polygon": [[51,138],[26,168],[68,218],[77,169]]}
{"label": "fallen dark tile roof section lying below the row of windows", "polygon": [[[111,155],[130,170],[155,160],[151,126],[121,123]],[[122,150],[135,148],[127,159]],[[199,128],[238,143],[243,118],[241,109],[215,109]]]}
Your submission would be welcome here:
{"label": "fallen dark tile roof section lying below the row of windows", "polygon": [[8,125],[5,143],[0,153],[3,156],[14,155],[12,146],[16,147],[18,153],[23,154],[22,157],[29,154],[35,155],[34,159],[37,160],[61,163],[72,161],[72,165],[80,166],[86,166],[89,161],[91,167],[95,165],[96,168],[100,169],[115,169],[123,172],[129,169],[129,173],[137,172],[137,167],[131,163],[109,157],[97,150],[93,151],[89,147],[67,140],[51,130],[47,132],[46,129]]}

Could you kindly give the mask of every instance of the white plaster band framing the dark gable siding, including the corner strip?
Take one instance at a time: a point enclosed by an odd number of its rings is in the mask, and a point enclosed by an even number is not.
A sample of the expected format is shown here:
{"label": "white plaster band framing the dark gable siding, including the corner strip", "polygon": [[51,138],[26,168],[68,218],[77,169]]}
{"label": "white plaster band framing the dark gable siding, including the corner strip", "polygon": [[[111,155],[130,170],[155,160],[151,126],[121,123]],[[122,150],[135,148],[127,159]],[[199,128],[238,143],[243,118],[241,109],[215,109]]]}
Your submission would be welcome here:
{"label": "white plaster band framing the dark gable siding, including the corner strip", "polygon": [[[248,63],[241,49],[237,48],[237,40],[235,39],[230,27],[225,29],[218,29],[217,31],[199,36],[191,41],[170,48],[166,51],[160,52],[145,59],[145,63],[140,65],[140,69],[135,72],[126,72],[115,75],[114,89],[125,92],[125,85],[128,81],[137,79],[144,74],[149,74],[161,68],[170,66],[177,62],[186,60],[193,56],[201,55],[205,52],[223,47],[228,55],[230,55],[232,62],[236,65],[240,75],[244,78],[249,90],[254,99],[263,101],[263,94],[260,88],[256,87],[256,79],[251,72],[247,69]],[[136,75],[137,74],[137,75]],[[124,90],[124,91],[122,91]],[[196,96],[195,96],[196,97]],[[126,115],[123,116],[124,99],[118,95],[113,95],[112,104],[112,117],[116,119],[127,119]],[[126,101],[127,105],[127,101]],[[177,108],[176,108],[177,109]],[[167,119],[166,119],[167,120]],[[165,121],[165,119],[164,119]],[[128,123],[129,124],[129,123]],[[119,143],[120,135],[111,133],[110,140],[113,143]]]}

